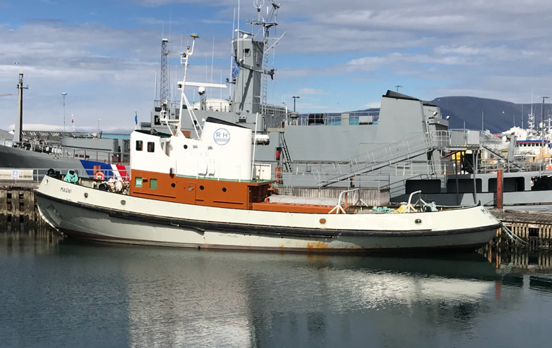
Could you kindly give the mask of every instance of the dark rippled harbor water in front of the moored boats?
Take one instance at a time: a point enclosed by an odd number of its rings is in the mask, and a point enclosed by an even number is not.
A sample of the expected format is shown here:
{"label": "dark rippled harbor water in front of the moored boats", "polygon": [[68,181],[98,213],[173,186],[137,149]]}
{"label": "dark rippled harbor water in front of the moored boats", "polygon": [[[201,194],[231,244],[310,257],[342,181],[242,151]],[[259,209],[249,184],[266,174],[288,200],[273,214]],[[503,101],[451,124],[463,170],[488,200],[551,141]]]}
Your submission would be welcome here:
{"label": "dark rippled harbor water in front of the moored boats", "polygon": [[132,247],[0,231],[0,346],[550,347],[552,269],[495,260]]}

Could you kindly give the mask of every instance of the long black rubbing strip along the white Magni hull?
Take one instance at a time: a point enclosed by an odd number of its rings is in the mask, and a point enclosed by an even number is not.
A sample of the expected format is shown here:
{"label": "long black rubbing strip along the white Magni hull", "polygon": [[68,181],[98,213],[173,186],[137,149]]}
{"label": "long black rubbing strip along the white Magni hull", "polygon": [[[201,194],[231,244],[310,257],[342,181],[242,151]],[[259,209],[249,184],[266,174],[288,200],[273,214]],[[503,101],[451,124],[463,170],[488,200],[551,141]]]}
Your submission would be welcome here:
{"label": "long black rubbing strip along the white Magni hull", "polygon": [[66,201],[56,197],[51,197],[39,191],[35,191],[35,194],[45,199],[50,199],[62,204],[68,204],[76,206],[80,209],[87,209],[90,211],[96,211],[98,213],[105,213],[113,218],[121,218],[124,220],[134,220],[143,223],[155,223],[158,225],[171,225],[188,230],[195,230],[196,232],[203,234],[205,230],[216,230],[217,232],[227,233],[243,233],[246,235],[278,235],[287,237],[316,237],[316,238],[332,238],[332,237],[422,237],[422,236],[441,236],[441,235],[467,235],[476,232],[483,232],[488,230],[497,230],[501,228],[502,223],[496,223],[493,225],[481,226],[478,228],[464,228],[461,230],[406,230],[406,231],[381,231],[381,230],[339,230],[328,229],[320,230],[315,228],[293,228],[284,226],[270,226],[270,225],[248,225],[243,223],[220,223],[212,221],[191,220],[191,219],[179,219],[169,218],[164,216],[155,216],[142,213],[131,213],[128,211],[119,211],[103,208],[100,206],[91,206],[89,204],[83,204],[73,201]]}

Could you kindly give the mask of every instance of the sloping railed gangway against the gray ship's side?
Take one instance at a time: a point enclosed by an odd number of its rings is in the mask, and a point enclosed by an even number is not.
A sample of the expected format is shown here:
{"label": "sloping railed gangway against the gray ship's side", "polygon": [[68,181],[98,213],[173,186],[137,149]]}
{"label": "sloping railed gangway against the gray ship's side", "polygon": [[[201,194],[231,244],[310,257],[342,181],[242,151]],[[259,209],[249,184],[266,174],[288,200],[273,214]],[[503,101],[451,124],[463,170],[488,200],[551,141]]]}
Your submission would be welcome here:
{"label": "sloping railed gangway against the gray ship's side", "polygon": [[[440,140],[441,144],[446,142],[443,143],[443,139]],[[328,170],[320,171],[319,185],[327,187],[336,182],[354,178],[355,175],[428,154],[439,147],[441,146],[437,143],[433,144],[425,134],[416,135],[401,142],[368,151],[366,154],[332,163]]]}

